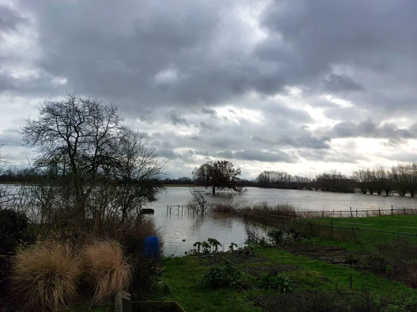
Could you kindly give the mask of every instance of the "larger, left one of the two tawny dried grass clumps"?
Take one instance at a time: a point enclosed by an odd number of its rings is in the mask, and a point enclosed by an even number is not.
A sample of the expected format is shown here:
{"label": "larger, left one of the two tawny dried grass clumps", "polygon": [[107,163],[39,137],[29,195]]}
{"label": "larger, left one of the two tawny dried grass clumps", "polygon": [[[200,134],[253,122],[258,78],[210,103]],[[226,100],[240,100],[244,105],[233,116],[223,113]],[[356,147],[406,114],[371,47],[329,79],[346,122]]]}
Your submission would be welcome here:
{"label": "larger, left one of the two tawny dried grass clumps", "polygon": [[79,296],[83,265],[70,245],[42,241],[19,250],[13,258],[13,287],[30,311],[67,307]]}

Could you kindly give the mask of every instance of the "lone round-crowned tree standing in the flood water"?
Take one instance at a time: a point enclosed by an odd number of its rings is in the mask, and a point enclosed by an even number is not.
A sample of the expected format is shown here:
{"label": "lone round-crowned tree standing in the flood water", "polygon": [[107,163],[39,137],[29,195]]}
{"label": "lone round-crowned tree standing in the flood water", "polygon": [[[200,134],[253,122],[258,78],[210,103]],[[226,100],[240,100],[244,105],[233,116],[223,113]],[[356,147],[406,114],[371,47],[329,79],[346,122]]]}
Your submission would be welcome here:
{"label": "lone round-crowned tree standing in the flood water", "polygon": [[241,193],[245,191],[238,185],[241,175],[240,168],[235,168],[227,160],[218,160],[217,162],[207,162],[193,171],[194,179],[197,183],[206,187],[212,187],[212,193],[215,190],[230,190]]}

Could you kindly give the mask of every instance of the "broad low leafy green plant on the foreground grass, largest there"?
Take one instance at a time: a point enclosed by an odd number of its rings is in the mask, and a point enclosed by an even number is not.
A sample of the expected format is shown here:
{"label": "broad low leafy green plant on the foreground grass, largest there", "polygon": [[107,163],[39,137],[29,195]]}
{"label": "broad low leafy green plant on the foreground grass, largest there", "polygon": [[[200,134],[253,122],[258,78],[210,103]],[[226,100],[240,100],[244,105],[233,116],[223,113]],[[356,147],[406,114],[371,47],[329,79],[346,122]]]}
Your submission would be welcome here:
{"label": "broad low leafy green plant on the foreground grass, largest there", "polygon": [[250,275],[233,266],[230,261],[225,261],[221,266],[211,266],[198,283],[211,288],[224,286],[247,288],[252,281]]}

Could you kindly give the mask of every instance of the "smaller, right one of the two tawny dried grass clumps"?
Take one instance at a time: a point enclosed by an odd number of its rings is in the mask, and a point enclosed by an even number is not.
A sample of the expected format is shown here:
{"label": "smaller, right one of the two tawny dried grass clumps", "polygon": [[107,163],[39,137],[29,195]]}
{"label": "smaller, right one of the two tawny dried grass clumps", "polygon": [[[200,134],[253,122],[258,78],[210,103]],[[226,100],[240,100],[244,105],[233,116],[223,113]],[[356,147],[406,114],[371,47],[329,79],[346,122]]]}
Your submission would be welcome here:
{"label": "smaller, right one of the two tawny dried grass clumps", "polygon": [[131,266],[116,241],[93,241],[84,248],[85,272],[94,289],[93,300],[104,302],[129,284]]}

